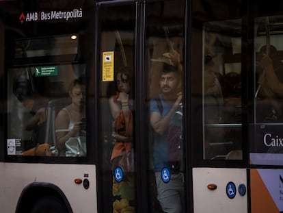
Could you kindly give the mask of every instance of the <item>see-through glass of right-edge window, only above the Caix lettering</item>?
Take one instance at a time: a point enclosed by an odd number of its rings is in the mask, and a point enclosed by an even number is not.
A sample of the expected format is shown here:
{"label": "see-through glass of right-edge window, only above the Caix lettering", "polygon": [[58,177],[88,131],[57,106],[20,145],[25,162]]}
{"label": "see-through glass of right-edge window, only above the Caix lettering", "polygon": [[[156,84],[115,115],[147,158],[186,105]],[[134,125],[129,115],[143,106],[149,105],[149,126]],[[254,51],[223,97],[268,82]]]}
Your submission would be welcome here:
{"label": "see-through glass of right-edge window, only above the Caix lettering", "polygon": [[282,16],[256,19],[256,121],[281,122]]}

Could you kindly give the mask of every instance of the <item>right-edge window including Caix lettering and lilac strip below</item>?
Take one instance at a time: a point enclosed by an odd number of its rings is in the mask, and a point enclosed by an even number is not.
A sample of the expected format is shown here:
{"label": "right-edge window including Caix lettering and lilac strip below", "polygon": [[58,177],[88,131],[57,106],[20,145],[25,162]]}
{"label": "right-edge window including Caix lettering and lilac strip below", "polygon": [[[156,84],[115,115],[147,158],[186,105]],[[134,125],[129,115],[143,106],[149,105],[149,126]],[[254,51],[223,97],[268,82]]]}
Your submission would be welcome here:
{"label": "right-edge window including Caix lettering and lilac strip below", "polygon": [[282,165],[283,16],[255,18],[252,164]]}

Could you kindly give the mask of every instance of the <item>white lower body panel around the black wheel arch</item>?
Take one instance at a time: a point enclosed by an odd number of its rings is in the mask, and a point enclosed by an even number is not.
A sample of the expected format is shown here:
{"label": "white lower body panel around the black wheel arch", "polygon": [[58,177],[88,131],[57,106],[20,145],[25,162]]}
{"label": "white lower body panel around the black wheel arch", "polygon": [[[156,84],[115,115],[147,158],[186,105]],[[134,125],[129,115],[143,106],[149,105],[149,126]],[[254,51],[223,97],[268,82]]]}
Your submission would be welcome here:
{"label": "white lower body panel around the black wheel arch", "polygon": [[[72,212],[96,212],[96,166],[84,164],[18,164],[1,163],[1,190],[5,197],[1,199],[3,212],[15,212],[22,190],[29,184],[42,183],[57,186],[71,205]],[[75,179],[88,179],[90,186],[75,184]],[[44,184],[45,183],[45,184]],[[3,193],[1,193],[2,195]],[[30,199],[35,199],[33,195]]]}

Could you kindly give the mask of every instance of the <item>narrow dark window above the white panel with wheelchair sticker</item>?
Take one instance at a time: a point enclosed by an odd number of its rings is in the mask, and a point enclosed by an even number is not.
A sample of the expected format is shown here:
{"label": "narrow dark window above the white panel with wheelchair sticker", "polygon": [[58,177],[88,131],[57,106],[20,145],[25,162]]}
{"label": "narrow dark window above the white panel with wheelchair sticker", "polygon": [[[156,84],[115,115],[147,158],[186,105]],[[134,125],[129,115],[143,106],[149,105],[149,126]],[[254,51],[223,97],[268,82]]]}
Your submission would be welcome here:
{"label": "narrow dark window above the white panel with wheelchair sticker", "polygon": [[202,35],[203,158],[241,160],[241,21],[205,23]]}

